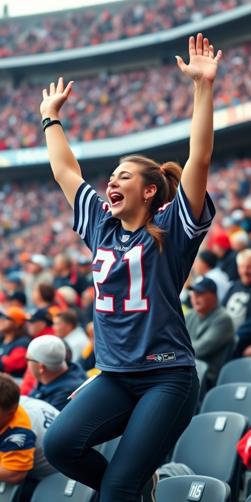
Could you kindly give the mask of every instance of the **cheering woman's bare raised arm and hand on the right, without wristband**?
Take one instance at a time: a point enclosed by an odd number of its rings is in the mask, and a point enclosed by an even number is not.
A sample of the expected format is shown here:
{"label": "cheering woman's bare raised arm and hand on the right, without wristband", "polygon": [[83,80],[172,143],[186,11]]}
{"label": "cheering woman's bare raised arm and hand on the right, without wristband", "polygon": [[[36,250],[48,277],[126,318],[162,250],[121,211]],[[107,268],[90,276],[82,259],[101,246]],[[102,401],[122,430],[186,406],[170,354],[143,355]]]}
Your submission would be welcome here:
{"label": "cheering woman's bare raised arm and hand on the right, without wristband", "polygon": [[189,39],[189,56],[189,65],[186,65],[180,56],[176,56],[180,69],[192,78],[195,84],[190,154],[183,169],[181,183],[193,216],[199,220],[213,149],[213,81],[221,51],[218,51],[214,58],[213,46],[199,33],[196,46],[194,37]]}

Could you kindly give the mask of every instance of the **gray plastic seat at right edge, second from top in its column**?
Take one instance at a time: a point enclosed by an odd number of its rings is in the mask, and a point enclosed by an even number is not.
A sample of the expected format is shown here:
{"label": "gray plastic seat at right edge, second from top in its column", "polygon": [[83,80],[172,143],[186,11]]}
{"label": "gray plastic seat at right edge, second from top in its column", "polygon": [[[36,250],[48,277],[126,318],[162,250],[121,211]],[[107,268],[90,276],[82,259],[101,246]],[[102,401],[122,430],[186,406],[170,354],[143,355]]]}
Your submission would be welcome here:
{"label": "gray plastic seat at right edge, second from top in its column", "polygon": [[199,413],[232,411],[248,418],[251,427],[251,384],[224,384],[211,389],[204,397]]}

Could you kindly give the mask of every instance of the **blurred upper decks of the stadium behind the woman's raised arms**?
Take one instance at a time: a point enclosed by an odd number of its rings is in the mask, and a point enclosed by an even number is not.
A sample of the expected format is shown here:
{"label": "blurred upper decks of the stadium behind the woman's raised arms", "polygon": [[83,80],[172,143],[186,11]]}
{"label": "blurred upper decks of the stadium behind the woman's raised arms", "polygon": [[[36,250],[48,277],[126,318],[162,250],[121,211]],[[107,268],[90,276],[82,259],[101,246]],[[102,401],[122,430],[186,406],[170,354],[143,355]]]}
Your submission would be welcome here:
{"label": "blurred upper decks of the stadium behind the woman's raised arms", "polygon": [[[82,25],[83,32],[89,33],[91,23],[99,26],[101,19],[104,22],[104,15],[110,23],[107,21],[106,28],[108,25],[113,26],[114,20],[117,20],[116,26],[120,26],[119,23],[123,20],[124,30],[141,25],[143,31],[139,31],[137,37],[104,43],[102,34],[105,29],[100,29],[100,43],[96,41],[90,47],[83,48],[70,49],[67,46],[62,50],[60,43],[70,40],[71,47],[74,46],[76,40],[80,40],[77,37],[80,36]],[[81,16],[85,16],[89,24],[87,21],[81,24]],[[150,18],[152,24],[149,22]],[[170,29],[167,29],[167,18]],[[149,148],[157,152],[157,157],[162,158],[163,153],[166,156],[169,152],[177,158],[177,145],[179,154],[182,146],[181,155],[185,158],[188,152],[189,117],[192,112],[192,85],[182,81],[179,69],[170,62],[174,61],[176,53],[187,56],[188,36],[202,30],[205,36],[212,31],[211,39],[216,49],[220,38],[223,39],[223,49],[232,47],[224,51],[215,86],[216,108],[224,108],[222,112],[217,111],[215,116],[215,129],[223,134],[222,146],[218,144],[219,150],[226,150],[229,145],[234,148],[236,143],[245,144],[246,130],[251,120],[248,43],[251,38],[250,20],[251,2],[245,0],[152,0],[140,4],[127,0],[119,4],[99,6],[95,11],[82,9],[74,10],[71,14],[59,13],[57,16],[30,16],[22,22],[20,19],[12,20],[9,24],[0,22],[0,47],[6,43],[7,52],[13,50],[12,57],[0,60],[0,166],[48,165],[46,148],[43,147],[39,103],[41,88],[49,81],[56,81],[60,74],[66,79],[74,77],[75,80],[72,95],[62,111],[62,119],[66,136],[80,162],[94,159],[98,171],[100,157],[105,157],[110,165],[110,159],[119,154],[135,150],[146,152]],[[35,23],[36,30],[40,27],[40,46],[36,43],[36,37],[31,36]],[[47,31],[43,23],[46,24]],[[164,25],[166,29],[158,31]],[[75,36],[72,35],[73,26],[78,27]],[[156,33],[147,34],[148,29],[155,30]],[[38,36],[36,30],[34,33]],[[57,39],[57,33],[61,34],[62,31],[64,37],[61,35]],[[107,28],[105,33],[108,32]],[[120,35],[121,33],[120,31]],[[135,33],[131,32],[131,35]],[[155,39],[151,38],[153,36]],[[54,43],[56,39],[58,45]],[[22,41],[26,43],[22,45]],[[239,41],[247,43],[236,48],[236,42]],[[119,61],[116,55],[122,49],[117,44],[130,44],[131,48],[124,50],[123,54],[120,52]],[[137,53],[134,50],[137,44],[143,52]],[[155,53],[151,52],[157,46]],[[20,54],[26,51],[26,55],[13,56],[15,47]],[[37,54],[39,47],[40,50],[43,47],[44,51],[52,52]],[[92,57],[85,54],[82,55],[82,60],[74,60],[74,57],[71,61],[67,60],[72,51],[93,49],[97,51],[96,56],[94,53]],[[3,55],[7,56],[7,52]],[[97,57],[98,53],[102,64]],[[11,52],[9,56],[10,54]],[[61,58],[60,66],[55,63],[59,61],[58,57]],[[44,58],[41,60],[42,66],[37,62],[39,58]],[[53,61],[52,66],[49,63]],[[232,107],[229,112],[227,106]],[[236,124],[239,124],[237,127],[240,134],[237,130],[230,131],[230,136],[224,133],[225,128]],[[126,141],[125,134],[130,135]],[[218,133],[215,137],[216,148],[217,138]],[[6,149],[9,149],[8,152]],[[238,154],[238,151],[233,152],[233,155]]]}

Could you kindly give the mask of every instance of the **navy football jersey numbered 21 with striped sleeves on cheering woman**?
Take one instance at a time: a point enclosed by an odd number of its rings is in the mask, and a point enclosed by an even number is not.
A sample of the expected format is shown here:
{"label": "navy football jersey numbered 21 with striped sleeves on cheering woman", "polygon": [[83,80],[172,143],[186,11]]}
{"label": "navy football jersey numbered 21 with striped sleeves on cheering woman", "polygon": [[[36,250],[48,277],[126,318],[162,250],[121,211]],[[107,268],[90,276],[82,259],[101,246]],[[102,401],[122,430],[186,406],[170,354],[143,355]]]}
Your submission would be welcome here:
{"label": "navy football jersey numbered 21 with striped sleeves on cheering woman", "polygon": [[93,253],[97,368],[142,371],[195,365],[179,295],[214,214],[206,194],[196,221],[180,183],[174,200],[153,219],[166,230],[161,255],[145,226],[123,235],[127,232],[121,232],[121,221],[112,216],[109,204],[87,183],[79,187],[73,230]]}

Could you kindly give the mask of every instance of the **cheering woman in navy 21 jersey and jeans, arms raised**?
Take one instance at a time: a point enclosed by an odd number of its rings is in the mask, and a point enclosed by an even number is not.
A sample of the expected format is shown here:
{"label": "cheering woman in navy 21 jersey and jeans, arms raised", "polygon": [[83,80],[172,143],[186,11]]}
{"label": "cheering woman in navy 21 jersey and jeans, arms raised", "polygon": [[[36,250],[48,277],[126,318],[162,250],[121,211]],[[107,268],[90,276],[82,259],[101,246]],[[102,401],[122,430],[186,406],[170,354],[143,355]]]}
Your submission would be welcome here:
{"label": "cheering woman in navy 21 jersey and jeans, arms raised", "polygon": [[[206,193],[213,148],[213,81],[221,56],[189,39],[194,80],[190,155],[183,169],[141,155],[120,159],[109,204],[83,181],[58,118],[73,82],[43,91],[43,126],[74,230],[93,253],[96,367],[101,372],[49,427],[47,460],[100,492],[101,502],[155,500],[156,469],[191,421],[198,396],[194,351],[179,295],[214,216]],[[100,161],[101,162],[101,161]],[[100,168],[101,169],[101,168]],[[121,435],[108,463],[93,446]]]}

